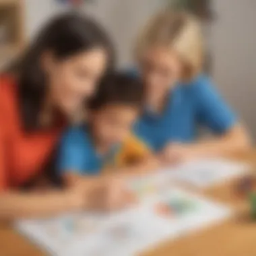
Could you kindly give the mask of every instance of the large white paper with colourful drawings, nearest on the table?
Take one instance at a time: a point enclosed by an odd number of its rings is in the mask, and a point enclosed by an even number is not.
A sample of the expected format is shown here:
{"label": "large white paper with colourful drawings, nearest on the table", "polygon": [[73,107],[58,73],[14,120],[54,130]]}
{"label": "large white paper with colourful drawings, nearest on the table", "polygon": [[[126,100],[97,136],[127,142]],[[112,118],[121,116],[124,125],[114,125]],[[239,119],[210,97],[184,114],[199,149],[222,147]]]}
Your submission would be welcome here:
{"label": "large white paper with colourful drawings, nearest on the table", "polygon": [[133,256],[232,214],[224,205],[158,182],[133,181],[129,187],[138,204],[129,210],[21,220],[16,228],[49,255]]}

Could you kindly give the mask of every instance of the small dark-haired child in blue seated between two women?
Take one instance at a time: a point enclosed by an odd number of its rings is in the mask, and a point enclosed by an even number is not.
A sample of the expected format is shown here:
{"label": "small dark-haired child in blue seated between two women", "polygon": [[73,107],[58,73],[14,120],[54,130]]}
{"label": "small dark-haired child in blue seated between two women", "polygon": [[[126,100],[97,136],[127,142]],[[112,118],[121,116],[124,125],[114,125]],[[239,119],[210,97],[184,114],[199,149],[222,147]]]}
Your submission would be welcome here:
{"label": "small dark-haired child in blue seated between two women", "polygon": [[115,73],[104,79],[89,103],[88,123],[72,127],[61,141],[58,170],[66,185],[85,175],[155,167],[150,150],[131,134],[143,96],[143,84],[133,77]]}

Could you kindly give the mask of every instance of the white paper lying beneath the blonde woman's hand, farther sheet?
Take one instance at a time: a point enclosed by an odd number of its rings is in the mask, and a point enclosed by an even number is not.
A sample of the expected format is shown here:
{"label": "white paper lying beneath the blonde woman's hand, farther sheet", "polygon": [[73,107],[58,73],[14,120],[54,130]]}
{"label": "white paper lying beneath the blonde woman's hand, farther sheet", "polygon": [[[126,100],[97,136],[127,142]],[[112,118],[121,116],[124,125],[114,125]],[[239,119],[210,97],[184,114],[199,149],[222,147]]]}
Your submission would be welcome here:
{"label": "white paper lying beneath the blonde woman's hand, farther sheet", "polygon": [[172,179],[184,181],[199,188],[212,187],[245,174],[248,164],[224,159],[206,159],[187,162],[170,168]]}

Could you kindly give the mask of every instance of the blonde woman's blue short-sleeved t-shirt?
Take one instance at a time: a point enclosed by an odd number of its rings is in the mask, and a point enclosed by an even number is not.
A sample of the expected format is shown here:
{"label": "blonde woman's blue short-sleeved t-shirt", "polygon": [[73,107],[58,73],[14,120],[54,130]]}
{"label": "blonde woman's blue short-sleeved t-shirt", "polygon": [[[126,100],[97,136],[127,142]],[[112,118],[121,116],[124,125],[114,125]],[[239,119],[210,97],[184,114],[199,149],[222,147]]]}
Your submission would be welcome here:
{"label": "blonde woman's blue short-sleeved t-shirt", "polygon": [[193,141],[199,125],[222,134],[235,122],[234,113],[210,79],[200,75],[193,82],[177,84],[170,90],[163,113],[147,108],[135,125],[135,133],[158,151],[170,141]]}

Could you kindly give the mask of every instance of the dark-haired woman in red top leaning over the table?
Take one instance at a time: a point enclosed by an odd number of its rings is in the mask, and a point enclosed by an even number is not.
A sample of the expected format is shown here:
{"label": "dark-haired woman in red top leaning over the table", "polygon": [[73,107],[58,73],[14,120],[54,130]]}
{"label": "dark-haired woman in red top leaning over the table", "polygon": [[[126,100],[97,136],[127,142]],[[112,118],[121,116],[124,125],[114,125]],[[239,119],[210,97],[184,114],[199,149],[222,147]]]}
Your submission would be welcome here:
{"label": "dark-haired woman in red top leaning over the table", "polygon": [[93,191],[79,186],[44,194],[18,189],[44,170],[61,132],[82,116],[79,109],[112,60],[104,31],[87,18],[66,14],[32,42],[16,79],[1,77],[0,218],[92,206]]}

